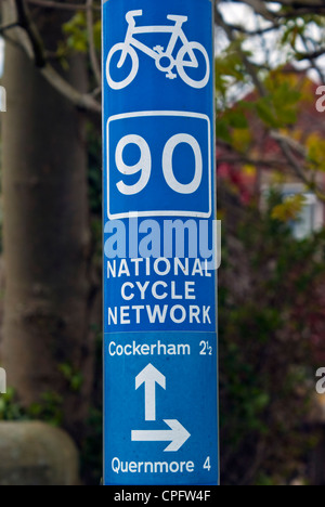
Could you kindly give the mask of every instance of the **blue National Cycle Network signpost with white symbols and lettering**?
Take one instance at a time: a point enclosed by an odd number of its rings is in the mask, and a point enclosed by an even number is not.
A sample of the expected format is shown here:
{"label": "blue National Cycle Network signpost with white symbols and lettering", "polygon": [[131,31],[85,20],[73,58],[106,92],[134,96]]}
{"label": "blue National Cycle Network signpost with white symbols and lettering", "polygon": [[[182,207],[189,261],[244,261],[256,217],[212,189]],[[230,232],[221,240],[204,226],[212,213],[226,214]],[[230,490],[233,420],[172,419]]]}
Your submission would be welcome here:
{"label": "blue National Cycle Network signpost with white symbols and lettering", "polygon": [[218,484],[212,10],[103,4],[105,485]]}

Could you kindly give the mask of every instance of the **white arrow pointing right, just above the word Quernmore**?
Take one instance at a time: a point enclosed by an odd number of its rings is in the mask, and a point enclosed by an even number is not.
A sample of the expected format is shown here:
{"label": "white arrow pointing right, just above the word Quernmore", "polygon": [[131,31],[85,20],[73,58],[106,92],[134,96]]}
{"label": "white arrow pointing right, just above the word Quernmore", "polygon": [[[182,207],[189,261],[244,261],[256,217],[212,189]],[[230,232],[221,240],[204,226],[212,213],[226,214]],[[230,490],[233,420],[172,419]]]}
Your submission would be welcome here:
{"label": "white arrow pointing right, just above the word Quernmore", "polygon": [[132,431],[132,442],[171,442],[165,453],[176,453],[190,439],[191,434],[176,419],[166,419],[169,430],[158,431]]}

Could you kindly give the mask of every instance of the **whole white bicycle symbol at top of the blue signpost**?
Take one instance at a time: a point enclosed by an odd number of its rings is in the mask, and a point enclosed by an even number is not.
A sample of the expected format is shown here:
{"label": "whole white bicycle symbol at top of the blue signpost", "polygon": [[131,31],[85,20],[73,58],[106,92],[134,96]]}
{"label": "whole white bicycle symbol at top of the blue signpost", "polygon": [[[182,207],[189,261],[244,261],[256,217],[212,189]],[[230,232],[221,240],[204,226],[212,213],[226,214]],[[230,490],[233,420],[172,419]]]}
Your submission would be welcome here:
{"label": "whole white bicycle symbol at top of the blue signpost", "polygon": [[[143,53],[151,56],[156,62],[156,67],[161,73],[166,74],[168,79],[176,79],[178,75],[173,72],[176,68],[181,79],[192,88],[202,89],[207,86],[210,79],[210,61],[206,49],[198,42],[188,42],[187,37],[183,31],[183,24],[187,22],[187,16],[169,15],[168,20],[174,22],[174,25],[167,26],[142,26],[136,27],[135,17],[142,16],[143,11],[130,11],[126,18],[129,24],[125,42],[118,43],[109,51],[106,62],[106,78],[109,87],[113,90],[121,90],[128,87],[136,77],[139,72],[139,56],[134,48],[142,51]],[[156,46],[151,49],[144,43],[140,42],[134,38],[141,34],[171,34],[170,41],[167,50],[165,51],[161,46]],[[173,57],[176,46],[179,41],[182,41],[183,46],[178,52],[177,56]],[[203,54],[205,58],[205,75],[203,79],[195,80],[186,74],[188,68],[198,68],[199,63],[195,55],[195,51]],[[120,69],[127,62],[128,56],[131,58],[132,68],[127,78],[121,81],[116,81],[112,78],[110,64],[113,56],[117,53],[121,53],[120,60],[117,64],[117,68]]]}

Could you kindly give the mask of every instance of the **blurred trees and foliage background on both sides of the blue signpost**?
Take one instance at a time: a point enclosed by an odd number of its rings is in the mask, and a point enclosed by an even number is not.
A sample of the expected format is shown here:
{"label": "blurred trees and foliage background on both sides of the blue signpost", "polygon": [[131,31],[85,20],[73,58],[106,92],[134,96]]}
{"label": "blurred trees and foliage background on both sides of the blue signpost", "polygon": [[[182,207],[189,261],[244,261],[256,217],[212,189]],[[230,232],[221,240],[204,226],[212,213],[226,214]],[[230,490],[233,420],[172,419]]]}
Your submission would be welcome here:
{"label": "blurred trees and foliage background on both sides of the blue signpost", "polygon": [[[222,484],[323,485],[325,6],[214,11]],[[100,2],[1,0],[0,34],[0,420],[63,427],[99,484]]]}

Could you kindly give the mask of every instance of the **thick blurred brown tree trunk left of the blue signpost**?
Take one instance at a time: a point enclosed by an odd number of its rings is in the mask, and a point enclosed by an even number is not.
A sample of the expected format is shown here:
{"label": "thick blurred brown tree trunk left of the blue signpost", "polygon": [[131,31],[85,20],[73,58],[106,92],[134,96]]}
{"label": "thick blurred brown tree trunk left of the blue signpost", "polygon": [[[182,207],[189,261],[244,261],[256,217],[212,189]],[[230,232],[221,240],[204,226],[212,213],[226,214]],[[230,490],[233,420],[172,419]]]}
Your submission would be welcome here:
{"label": "thick blurred brown tree trunk left of the blue signpost", "polygon": [[[61,30],[53,15],[41,26],[48,46]],[[86,88],[83,58],[68,79]],[[9,43],[3,84],[3,365],[25,406],[62,396],[64,426],[79,439],[93,367],[86,120]]]}

